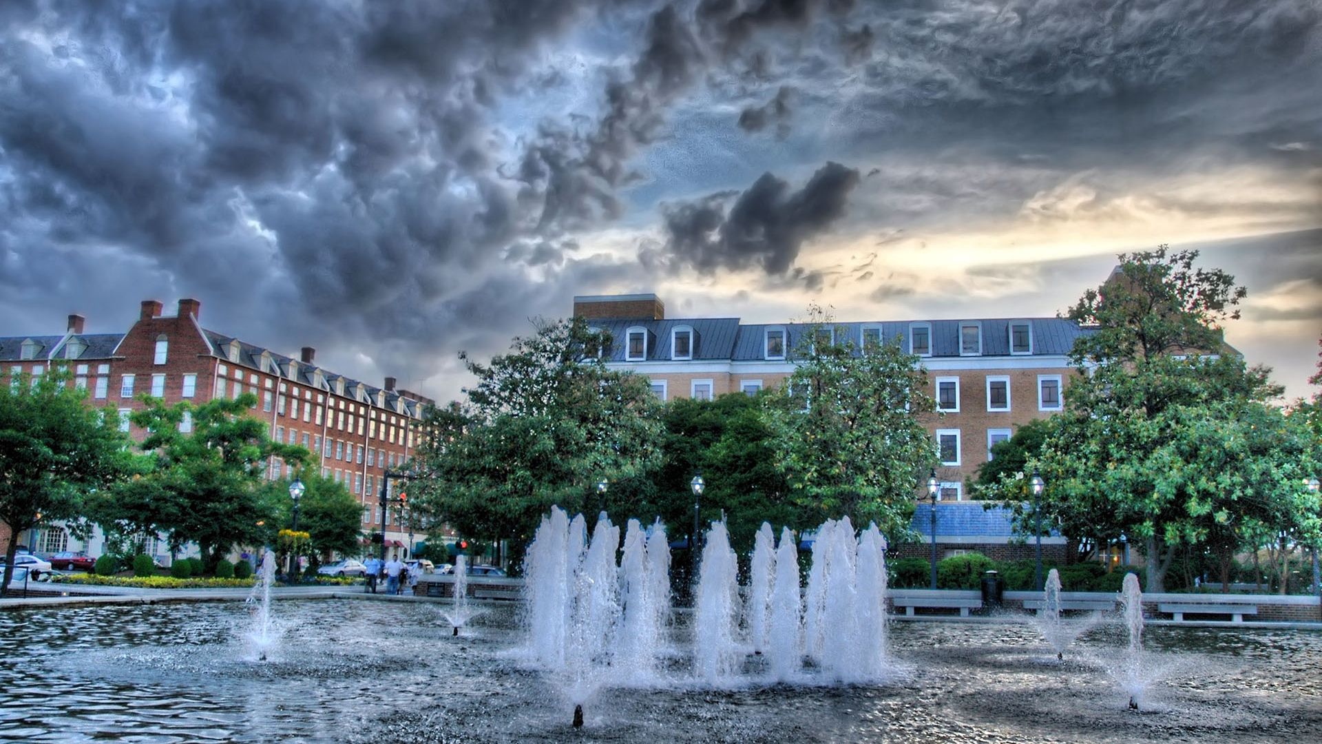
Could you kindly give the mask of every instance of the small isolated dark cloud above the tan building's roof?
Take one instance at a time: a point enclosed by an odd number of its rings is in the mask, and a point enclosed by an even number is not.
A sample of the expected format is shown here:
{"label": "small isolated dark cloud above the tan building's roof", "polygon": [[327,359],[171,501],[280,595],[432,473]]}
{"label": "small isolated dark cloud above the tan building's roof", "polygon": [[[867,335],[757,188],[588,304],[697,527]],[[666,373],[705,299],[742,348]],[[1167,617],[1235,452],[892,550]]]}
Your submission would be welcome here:
{"label": "small isolated dark cloud above the tan building's roof", "polygon": [[[760,267],[767,274],[791,271],[804,241],[845,214],[858,171],[838,163],[822,165],[798,191],[763,173],[726,212],[727,195],[666,205],[666,250],[699,271]],[[812,279],[820,286],[820,279]]]}

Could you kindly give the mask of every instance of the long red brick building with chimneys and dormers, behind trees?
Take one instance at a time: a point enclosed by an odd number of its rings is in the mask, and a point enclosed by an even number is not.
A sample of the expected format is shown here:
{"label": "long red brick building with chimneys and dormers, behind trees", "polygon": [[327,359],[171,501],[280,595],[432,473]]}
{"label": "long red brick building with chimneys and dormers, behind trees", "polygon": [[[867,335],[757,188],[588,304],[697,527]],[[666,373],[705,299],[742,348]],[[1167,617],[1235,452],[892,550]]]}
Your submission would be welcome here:
{"label": "long red brick building with chimneys and dormers, behind trees", "polygon": [[[206,330],[200,316],[196,299],[178,301],[173,315],[164,315],[157,301],[143,301],[137,322],[126,332],[85,334],[83,316],[70,315],[62,335],[0,338],[0,364],[11,384],[20,373],[41,376],[52,367],[67,368],[74,384],[89,391],[89,404],[118,409],[120,428],[139,441],[145,432],[130,421],[144,405],[139,396],[201,405],[253,393],[253,416],[268,424],[268,436],[308,449],[309,466],[344,483],[361,500],[364,531],[383,532],[390,552],[407,556],[412,549],[408,540],[416,535],[399,523],[394,510],[382,515],[379,488],[386,470],[408,462],[416,422],[432,401],[398,389],[393,377],[375,387],[323,369],[311,347],[292,357]],[[180,429],[190,428],[185,417]],[[293,473],[271,458],[266,475],[275,481]],[[79,544],[58,524],[33,532],[28,536],[33,552],[100,552],[95,540]],[[164,549],[164,540],[144,545],[157,557],[165,557]]]}

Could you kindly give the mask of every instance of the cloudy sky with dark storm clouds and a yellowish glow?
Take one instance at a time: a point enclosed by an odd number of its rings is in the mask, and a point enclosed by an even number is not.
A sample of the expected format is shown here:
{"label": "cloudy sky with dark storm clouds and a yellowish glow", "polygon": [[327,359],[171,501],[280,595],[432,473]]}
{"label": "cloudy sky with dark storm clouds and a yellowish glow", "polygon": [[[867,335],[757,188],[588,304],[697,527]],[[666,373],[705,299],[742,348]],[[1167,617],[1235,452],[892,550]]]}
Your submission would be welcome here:
{"label": "cloudy sky with dark storm clouds and a yellowish glow", "polygon": [[0,334],[140,299],[448,398],[575,294],[1052,315],[1196,246],[1322,335],[1313,0],[0,3]]}

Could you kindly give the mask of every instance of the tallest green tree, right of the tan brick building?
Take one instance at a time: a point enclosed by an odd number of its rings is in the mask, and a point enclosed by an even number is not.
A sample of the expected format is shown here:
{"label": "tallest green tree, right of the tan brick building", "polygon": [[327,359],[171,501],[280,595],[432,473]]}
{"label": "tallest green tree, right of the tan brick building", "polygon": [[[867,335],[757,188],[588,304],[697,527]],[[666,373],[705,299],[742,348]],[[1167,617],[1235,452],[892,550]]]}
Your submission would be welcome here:
{"label": "tallest green tree, right of the tan brick building", "polygon": [[[1244,297],[1233,277],[1194,269],[1196,252],[1121,256],[1105,285],[1071,308],[1089,328],[1066,410],[1026,467],[1047,482],[1043,530],[1138,541],[1161,592],[1182,545],[1245,539],[1303,496],[1309,450],[1269,405],[1280,388],[1222,342]],[[1002,475],[1018,523],[1036,526],[1026,479]],[[1273,516],[1274,515],[1274,516]]]}

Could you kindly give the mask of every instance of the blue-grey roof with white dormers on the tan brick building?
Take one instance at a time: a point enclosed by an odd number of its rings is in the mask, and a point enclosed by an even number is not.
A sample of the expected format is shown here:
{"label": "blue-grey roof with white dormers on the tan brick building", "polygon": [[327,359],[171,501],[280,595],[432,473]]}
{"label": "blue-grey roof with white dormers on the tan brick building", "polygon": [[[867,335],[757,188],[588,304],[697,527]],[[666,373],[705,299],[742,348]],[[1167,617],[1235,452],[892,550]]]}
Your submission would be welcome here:
{"label": "blue-grey roof with white dormers on the tan brick building", "polygon": [[[969,319],[982,324],[982,356],[1010,356],[1009,318]],[[932,357],[960,356],[960,324],[969,320],[883,320],[833,323],[837,340],[846,334],[855,344],[862,343],[863,328],[880,328],[883,342],[896,342],[910,335],[910,326],[927,323],[932,328]],[[1032,356],[1062,356],[1069,353],[1073,342],[1081,335],[1093,332],[1081,328],[1073,320],[1060,318],[1014,318],[1027,320],[1032,326]],[[697,334],[693,359],[761,361],[764,334],[767,328],[784,328],[788,339],[785,348],[793,353],[804,335],[812,328],[806,323],[739,323],[738,318],[676,318],[652,319],[592,319],[594,328],[611,332],[613,344],[607,361],[625,361],[625,334],[629,328],[642,327],[650,334],[646,360],[670,360],[670,331],[677,326],[690,326]]]}

